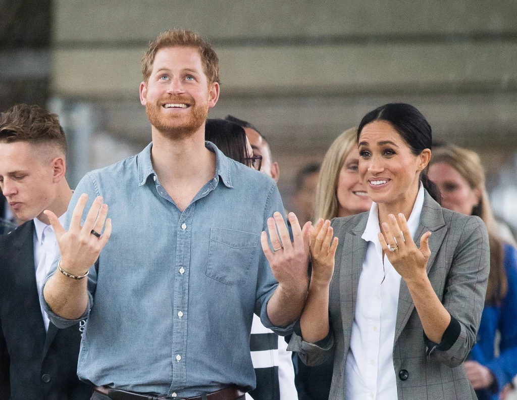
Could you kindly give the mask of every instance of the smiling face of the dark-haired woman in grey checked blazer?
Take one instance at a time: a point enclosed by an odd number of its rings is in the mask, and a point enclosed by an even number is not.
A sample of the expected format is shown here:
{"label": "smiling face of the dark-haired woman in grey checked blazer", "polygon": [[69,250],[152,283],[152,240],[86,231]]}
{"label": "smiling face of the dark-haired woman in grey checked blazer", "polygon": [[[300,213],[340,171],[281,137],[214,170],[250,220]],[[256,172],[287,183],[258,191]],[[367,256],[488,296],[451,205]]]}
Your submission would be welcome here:
{"label": "smiling face of the dark-haired woman in grey checked blazer", "polygon": [[394,205],[415,199],[431,151],[414,155],[389,122],[373,121],[362,128],[359,155],[359,175],[371,199]]}

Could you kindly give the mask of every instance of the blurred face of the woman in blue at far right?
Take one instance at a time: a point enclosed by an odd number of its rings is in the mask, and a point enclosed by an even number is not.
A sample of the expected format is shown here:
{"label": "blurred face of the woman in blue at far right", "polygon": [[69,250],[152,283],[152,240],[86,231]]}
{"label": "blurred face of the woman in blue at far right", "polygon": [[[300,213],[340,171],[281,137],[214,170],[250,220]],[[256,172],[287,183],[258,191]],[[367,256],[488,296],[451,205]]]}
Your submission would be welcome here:
{"label": "blurred face of the woman in blue at far right", "polygon": [[479,204],[481,191],[470,187],[455,168],[446,162],[436,162],[429,167],[429,178],[438,186],[442,207],[472,215],[472,210]]}

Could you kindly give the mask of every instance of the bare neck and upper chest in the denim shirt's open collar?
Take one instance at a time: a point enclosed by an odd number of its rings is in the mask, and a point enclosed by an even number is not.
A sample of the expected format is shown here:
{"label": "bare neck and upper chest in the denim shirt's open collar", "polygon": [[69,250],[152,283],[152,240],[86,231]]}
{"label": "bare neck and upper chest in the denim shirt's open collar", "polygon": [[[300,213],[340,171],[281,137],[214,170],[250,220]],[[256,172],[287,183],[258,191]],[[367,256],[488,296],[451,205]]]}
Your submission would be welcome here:
{"label": "bare neck and upper chest in the denim shirt's open collar", "polygon": [[216,156],[205,146],[205,124],[190,137],[179,140],[153,128],[151,162],[158,181],[183,211],[215,175]]}

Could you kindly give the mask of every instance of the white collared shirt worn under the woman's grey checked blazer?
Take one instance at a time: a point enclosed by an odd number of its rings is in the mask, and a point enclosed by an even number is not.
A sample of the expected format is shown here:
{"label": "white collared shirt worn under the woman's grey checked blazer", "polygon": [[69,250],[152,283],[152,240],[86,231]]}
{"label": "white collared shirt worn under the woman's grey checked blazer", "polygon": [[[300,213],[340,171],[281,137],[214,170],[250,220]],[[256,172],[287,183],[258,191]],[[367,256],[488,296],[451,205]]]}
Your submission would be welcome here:
{"label": "white collared shirt worn under the woman's grey checked blazer", "polygon": [[[420,184],[407,224],[415,236],[422,212],[424,191]],[[396,216],[397,217],[397,216]],[[361,238],[368,242],[357,288],[350,348],[346,357],[347,400],[397,400],[397,377],[393,367],[393,342],[401,276],[388,258],[382,259],[377,238],[378,207],[372,203]]]}

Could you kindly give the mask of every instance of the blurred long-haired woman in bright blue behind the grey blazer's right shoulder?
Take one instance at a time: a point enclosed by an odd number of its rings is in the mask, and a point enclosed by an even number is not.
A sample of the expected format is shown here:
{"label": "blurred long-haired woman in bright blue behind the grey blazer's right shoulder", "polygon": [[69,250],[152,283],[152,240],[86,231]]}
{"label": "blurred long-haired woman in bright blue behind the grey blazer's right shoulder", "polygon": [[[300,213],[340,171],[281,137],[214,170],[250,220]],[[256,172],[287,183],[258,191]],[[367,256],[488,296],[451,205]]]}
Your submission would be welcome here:
{"label": "blurred long-haired woman in bright blue behind the grey blazer's right shoulder", "polygon": [[[457,146],[440,146],[433,150],[429,176],[438,186],[445,208],[477,215],[488,229],[490,274],[485,307],[478,341],[465,368],[478,399],[497,400],[517,375],[517,252],[497,234],[483,167],[476,153]],[[496,331],[501,335],[498,348]]]}

